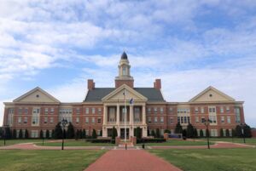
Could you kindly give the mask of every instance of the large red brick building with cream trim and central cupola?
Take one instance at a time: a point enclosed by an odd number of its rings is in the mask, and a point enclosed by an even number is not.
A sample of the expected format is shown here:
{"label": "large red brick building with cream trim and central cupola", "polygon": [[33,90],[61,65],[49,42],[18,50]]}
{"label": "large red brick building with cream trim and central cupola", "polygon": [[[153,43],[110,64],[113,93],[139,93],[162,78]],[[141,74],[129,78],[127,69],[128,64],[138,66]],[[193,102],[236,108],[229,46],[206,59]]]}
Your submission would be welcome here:
{"label": "large red brick building with cream trim and central cupola", "polygon": [[[111,134],[113,126],[121,138],[134,135],[134,128],[141,128],[143,137],[152,129],[160,128],[174,132],[177,122],[186,128],[192,123],[198,131],[206,134],[203,119],[210,119],[211,136],[218,136],[219,129],[230,131],[237,124],[245,123],[243,101],[236,101],[216,88],[208,87],[189,102],[167,102],[161,92],[161,81],[156,79],[153,88],[135,88],[131,77],[131,66],[125,52],[119,61],[119,76],[115,77],[115,88],[96,88],[88,80],[88,91],[83,102],[61,103],[42,88],[34,88],[13,102],[5,102],[3,124],[37,138],[40,130],[44,134],[55,128],[62,118],[72,122],[75,129],[85,129],[86,134],[102,131],[103,137]],[[126,108],[126,110],[125,110]],[[126,112],[126,114],[125,114]],[[125,119],[126,116],[126,119]]]}

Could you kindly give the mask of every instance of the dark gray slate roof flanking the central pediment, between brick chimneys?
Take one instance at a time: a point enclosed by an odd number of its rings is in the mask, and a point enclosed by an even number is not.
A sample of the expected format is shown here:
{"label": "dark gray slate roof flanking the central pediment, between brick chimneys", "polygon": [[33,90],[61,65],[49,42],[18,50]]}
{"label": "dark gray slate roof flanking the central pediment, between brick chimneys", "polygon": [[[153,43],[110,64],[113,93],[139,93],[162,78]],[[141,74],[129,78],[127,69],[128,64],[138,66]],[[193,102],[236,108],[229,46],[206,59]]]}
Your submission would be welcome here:
{"label": "dark gray slate roof flanking the central pediment, between brick chimneys", "polygon": [[[115,88],[94,88],[88,91],[84,102],[102,101],[102,98],[110,94]],[[133,88],[139,94],[148,98],[148,101],[165,101],[160,90],[155,88]]]}

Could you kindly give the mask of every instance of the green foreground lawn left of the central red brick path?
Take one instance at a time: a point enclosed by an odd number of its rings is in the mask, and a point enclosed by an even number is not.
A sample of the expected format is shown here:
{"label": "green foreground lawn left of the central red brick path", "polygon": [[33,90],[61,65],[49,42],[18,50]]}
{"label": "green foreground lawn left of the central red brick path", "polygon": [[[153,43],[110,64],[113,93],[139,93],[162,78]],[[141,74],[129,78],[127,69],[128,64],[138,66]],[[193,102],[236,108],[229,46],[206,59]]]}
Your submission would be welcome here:
{"label": "green foreground lawn left of the central red brick path", "polygon": [[105,151],[0,151],[0,171],[82,171]]}

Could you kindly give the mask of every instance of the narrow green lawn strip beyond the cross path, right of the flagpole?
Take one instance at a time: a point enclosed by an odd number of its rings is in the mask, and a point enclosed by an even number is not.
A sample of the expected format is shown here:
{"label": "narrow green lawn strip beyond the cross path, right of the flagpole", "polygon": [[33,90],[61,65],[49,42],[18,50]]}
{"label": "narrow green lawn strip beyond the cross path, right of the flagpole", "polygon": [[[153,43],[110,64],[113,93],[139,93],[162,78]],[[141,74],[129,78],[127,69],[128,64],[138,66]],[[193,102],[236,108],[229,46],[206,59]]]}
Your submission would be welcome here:
{"label": "narrow green lawn strip beyond the cross path, right of the flagpole", "polygon": [[[214,143],[211,142],[210,145],[213,145]],[[137,144],[137,145],[143,145],[143,144]],[[162,143],[145,143],[147,146],[159,146],[159,145],[207,145],[206,141],[189,141],[189,140],[167,140],[166,142]]]}

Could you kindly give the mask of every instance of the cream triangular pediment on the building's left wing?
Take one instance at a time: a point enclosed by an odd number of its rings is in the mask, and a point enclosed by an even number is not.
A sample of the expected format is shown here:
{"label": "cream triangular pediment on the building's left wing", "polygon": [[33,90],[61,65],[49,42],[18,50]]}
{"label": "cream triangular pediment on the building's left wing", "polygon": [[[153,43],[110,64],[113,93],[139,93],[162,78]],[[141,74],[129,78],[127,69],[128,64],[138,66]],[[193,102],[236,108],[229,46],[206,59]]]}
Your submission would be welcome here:
{"label": "cream triangular pediment on the building's left wing", "polygon": [[60,103],[55,97],[45,92],[42,88],[34,88],[26,94],[15,99],[14,102],[30,102],[30,103]]}

